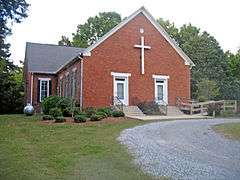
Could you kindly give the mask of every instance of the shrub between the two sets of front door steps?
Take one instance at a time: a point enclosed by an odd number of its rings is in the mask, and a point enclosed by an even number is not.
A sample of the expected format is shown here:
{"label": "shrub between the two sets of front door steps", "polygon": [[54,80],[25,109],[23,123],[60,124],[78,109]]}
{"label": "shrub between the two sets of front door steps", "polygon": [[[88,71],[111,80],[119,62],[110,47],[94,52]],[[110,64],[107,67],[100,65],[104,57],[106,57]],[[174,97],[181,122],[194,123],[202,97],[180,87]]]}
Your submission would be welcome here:
{"label": "shrub between the two sets of front door steps", "polygon": [[162,115],[163,113],[160,111],[159,105],[152,102],[141,102],[137,105],[139,109],[147,115]]}

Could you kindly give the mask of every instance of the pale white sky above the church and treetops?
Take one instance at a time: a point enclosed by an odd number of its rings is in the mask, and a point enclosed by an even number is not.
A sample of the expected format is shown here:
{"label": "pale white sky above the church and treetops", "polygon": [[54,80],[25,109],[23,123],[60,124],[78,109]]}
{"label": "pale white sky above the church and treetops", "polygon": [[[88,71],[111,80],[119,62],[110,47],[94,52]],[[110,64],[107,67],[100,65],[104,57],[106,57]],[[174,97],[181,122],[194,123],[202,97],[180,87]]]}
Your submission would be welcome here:
{"label": "pale white sky above the church and treetops", "polygon": [[28,17],[13,24],[10,59],[24,60],[26,42],[57,44],[71,37],[77,25],[99,12],[115,11],[122,18],[145,6],[155,18],[168,19],[180,27],[191,23],[213,35],[224,51],[240,48],[240,0],[26,0]]}

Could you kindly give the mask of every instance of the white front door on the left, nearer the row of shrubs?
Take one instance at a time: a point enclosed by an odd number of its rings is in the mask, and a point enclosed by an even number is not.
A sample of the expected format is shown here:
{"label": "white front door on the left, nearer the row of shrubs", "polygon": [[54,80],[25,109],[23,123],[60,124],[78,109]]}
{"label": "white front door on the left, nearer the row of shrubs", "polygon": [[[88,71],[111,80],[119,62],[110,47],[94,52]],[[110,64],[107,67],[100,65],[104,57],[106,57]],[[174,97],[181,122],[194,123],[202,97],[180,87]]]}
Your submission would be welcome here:
{"label": "white front door on the left, nearer the row of shrubs", "polygon": [[117,98],[114,104],[123,103],[128,105],[128,79],[127,77],[115,77],[114,79],[114,97]]}

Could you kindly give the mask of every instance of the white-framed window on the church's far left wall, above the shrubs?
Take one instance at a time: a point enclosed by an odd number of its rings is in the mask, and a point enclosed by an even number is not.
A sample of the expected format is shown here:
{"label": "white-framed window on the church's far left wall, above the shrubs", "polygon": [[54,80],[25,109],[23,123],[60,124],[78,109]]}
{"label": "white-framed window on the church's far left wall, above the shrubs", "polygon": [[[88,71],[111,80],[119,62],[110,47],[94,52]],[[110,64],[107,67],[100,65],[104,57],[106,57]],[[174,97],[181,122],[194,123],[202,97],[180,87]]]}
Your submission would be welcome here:
{"label": "white-framed window on the church's far left wall, above the shrubs", "polygon": [[38,78],[40,81],[40,87],[39,87],[39,101],[42,102],[44,98],[48,97],[50,95],[50,78]]}

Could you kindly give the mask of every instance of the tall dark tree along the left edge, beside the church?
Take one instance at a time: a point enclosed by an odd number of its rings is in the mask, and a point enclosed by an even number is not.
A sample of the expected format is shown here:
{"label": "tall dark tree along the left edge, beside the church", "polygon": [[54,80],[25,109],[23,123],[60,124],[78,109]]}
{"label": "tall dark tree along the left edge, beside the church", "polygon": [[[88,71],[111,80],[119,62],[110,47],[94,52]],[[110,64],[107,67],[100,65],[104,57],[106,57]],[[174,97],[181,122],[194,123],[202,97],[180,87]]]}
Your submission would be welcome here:
{"label": "tall dark tree along the left edge, beside the church", "polygon": [[27,17],[25,0],[0,0],[0,114],[22,112],[23,81],[22,68],[8,60],[12,23],[20,23]]}

